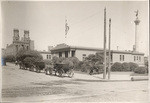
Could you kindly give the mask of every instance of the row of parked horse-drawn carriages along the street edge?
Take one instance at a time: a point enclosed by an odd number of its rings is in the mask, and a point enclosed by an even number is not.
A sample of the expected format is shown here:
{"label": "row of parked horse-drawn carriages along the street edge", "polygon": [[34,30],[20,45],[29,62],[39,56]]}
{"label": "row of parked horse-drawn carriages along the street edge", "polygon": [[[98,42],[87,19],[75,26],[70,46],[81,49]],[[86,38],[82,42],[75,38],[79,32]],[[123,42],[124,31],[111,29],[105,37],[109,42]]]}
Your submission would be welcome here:
{"label": "row of parked horse-drawn carriages along the street edge", "polygon": [[16,62],[20,69],[35,71],[40,73],[44,71],[46,75],[56,75],[62,77],[63,74],[67,74],[68,77],[72,78],[74,75],[74,66],[68,63],[49,63],[46,64],[44,61],[37,61],[34,64]]}

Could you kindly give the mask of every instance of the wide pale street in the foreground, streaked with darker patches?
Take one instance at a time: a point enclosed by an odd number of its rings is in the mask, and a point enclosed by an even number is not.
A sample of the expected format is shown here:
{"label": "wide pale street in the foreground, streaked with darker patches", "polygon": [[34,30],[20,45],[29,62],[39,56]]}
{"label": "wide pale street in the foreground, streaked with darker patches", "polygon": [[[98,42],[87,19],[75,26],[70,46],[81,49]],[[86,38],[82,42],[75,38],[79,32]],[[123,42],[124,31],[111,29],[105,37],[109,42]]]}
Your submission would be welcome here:
{"label": "wide pale street in the foreground, streaked with darker patches", "polygon": [[148,101],[148,81],[118,80],[107,82],[102,81],[101,76],[91,76],[80,72],[75,72],[73,78],[67,76],[61,78],[20,70],[18,66],[10,63],[3,67],[2,76],[3,101]]}

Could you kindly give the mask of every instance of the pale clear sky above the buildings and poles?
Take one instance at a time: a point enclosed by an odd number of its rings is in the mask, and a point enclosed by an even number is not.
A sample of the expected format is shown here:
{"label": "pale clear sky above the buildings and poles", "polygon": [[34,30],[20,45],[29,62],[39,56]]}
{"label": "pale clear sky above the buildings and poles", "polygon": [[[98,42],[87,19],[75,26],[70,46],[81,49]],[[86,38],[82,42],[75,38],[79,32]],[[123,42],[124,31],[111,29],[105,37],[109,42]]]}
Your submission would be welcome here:
{"label": "pale clear sky above the buildings and poles", "polygon": [[[36,50],[66,43],[73,46],[103,48],[104,8],[108,21],[111,18],[111,49],[132,50],[135,43],[135,12],[139,10],[139,51],[146,55],[149,50],[149,21],[147,1],[3,1],[2,47],[11,44],[13,29],[20,37],[30,31]],[[69,26],[65,38],[65,18]]]}

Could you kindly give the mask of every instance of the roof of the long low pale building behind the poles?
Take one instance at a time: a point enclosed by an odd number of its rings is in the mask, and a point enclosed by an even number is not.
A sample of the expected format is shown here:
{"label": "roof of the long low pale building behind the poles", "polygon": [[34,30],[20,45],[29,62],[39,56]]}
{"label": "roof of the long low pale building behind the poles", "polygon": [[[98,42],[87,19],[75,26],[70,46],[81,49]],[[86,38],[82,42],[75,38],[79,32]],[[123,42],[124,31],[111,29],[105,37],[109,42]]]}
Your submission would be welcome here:
{"label": "roof of the long low pale building behind the poles", "polygon": [[[58,44],[54,48],[51,49],[51,51],[59,51],[59,50],[66,50],[66,49],[78,49],[78,50],[89,50],[89,51],[103,51],[103,48],[93,48],[93,47],[82,47],[82,46],[69,46],[65,43]],[[108,49],[107,49],[108,52]],[[112,53],[122,53],[122,54],[133,54],[133,55],[144,55],[144,53],[141,52],[133,52],[130,50],[111,50]]]}

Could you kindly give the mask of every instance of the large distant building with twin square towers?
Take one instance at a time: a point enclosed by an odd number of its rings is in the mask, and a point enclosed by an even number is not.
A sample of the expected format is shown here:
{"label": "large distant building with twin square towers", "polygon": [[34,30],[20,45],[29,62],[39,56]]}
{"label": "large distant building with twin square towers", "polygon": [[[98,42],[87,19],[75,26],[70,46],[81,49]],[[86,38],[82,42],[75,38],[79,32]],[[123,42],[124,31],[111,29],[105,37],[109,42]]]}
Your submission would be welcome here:
{"label": "large distant building with twin square towers", "polygon": [[20,40],[19,30],[13,30],[13,42],[7,45],[5,49],[6,55],[16,55],[19,50],[34,50],[34,41],[30,39],[29,31],[24,30],[24,36]]}

